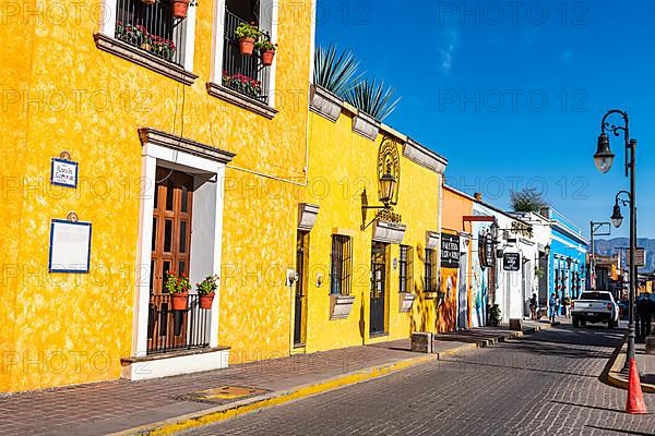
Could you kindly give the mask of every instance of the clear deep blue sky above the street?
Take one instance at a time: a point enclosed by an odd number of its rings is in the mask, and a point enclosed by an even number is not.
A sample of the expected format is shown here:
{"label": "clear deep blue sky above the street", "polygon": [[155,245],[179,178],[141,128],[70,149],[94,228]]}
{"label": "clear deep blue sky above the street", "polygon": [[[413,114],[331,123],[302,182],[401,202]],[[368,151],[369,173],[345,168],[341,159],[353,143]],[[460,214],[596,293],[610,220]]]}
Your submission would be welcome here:
{"label": "clear deep blue sky above the street", "polygon": [[639,237],[655,238],[653,16],[647,0],[319,0],[317,39],[397,89],[385,122],[445,156],[449,184],[499,207],[534,186],[585,234],[629,187],[621,138],[609,173],[593,162],[603,114],[627,110]]}

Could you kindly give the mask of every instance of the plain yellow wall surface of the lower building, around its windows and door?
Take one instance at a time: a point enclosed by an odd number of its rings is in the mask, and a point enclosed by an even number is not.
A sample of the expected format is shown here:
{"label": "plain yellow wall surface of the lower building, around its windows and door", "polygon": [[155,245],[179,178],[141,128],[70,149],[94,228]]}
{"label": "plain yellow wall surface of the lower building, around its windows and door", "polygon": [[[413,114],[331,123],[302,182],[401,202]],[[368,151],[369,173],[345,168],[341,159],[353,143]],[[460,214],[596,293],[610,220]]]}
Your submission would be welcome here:
{"label": "plain yellow wall surface of the lower building, around its windows and door", "polygon": [[[403,142],[397,140],[401,155],[398,204],[394,211],[407,226],[403,244],[413,247],[413,277],[418,298],[410,314],[400,312],[398,270],[392,261],[398,258],[400,246],[390,245],[388,268],[389,336],[369,339],[369,302],[371,277],[372,225],[361,230],[361,192],[366,187],[370,205],[378,201],[378,149],[381,131],[373,142],[352,130],[353,116],[344,110],[336,123],[310,113],[308,203],[320,206],[315,227],[310,233],[307,351],[358,346],[381,340],[409,337],[412,331],[433,331],[434,300],[422,294],[424,250],[426,231],[438,231],[440,175],[402,156]],[[376,210],[367,214],[367,223]],[[352,295],[356,298],[347,319],[330,319],[330,259],[333,229],[353,234]],[[317,287],[317,272],[324,283]]]}

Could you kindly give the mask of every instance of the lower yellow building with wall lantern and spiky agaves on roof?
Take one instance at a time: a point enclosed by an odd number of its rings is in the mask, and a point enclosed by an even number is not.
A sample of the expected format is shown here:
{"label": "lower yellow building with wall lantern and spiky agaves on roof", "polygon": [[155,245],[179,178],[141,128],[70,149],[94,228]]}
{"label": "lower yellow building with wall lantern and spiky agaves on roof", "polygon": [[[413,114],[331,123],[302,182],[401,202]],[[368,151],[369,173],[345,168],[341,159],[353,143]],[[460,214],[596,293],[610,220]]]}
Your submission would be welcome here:
{"label": "lower yellow building with wall lantern and spiky agaves on roof", "polygon": [[446,160],[319,87],[310,104],[296,351],[436,331]]}

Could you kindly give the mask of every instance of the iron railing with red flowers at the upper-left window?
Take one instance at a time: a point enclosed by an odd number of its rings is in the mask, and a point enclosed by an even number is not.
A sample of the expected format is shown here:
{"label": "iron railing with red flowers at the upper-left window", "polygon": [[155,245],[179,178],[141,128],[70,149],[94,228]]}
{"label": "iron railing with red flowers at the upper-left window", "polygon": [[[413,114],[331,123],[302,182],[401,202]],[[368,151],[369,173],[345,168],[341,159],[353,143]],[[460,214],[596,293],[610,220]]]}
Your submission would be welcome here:
{"label": "iron railing with red flowers at the upper-left window", "polygon": [[183,65],[184,34],[186,20],[174,19],[170,1],[117,0],[117,39]]}

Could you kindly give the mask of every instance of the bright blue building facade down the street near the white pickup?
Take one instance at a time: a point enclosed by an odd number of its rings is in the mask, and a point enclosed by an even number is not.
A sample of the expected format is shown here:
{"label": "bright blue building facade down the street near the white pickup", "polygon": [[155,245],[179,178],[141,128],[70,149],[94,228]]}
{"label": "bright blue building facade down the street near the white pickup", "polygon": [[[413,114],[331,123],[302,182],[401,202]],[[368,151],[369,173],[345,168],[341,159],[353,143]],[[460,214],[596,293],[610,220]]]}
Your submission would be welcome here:
{"label": "bright blue building facade down the street near the white pickup", "polygon": [[547,272],[548,294],[540,294],[539,300],[547,302],[552,293],[557,293],[561,301],[567,296],[576,299],[586,286],[588,241],[579,227],[553,208],[545,208],[541,215],[551,222],[551,237]]}

